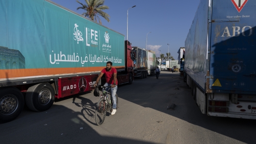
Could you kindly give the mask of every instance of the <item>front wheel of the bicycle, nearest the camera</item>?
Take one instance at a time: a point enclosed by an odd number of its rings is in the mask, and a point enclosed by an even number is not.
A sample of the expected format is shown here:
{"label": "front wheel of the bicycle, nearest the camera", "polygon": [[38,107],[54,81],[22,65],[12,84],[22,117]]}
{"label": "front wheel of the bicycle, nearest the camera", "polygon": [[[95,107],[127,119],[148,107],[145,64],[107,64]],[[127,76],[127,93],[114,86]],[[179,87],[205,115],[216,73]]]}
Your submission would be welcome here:
{"label": "front wheel of the bicycle, nearest the camera", "polygon": [[97,103],[97,107],[95,110],[95,121],[98,126],[104,122],[106,117],[106,111],[106,103],[104,99],[100,99]]}

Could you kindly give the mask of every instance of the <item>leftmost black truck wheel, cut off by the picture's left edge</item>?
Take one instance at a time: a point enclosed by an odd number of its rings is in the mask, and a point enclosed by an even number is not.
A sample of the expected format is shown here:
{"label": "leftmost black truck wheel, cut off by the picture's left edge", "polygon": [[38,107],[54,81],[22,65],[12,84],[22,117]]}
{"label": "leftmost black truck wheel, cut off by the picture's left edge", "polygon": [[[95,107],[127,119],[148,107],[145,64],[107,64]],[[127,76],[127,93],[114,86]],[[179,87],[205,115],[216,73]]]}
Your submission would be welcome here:
{"label": "leftmost black truck wheel, cut off by the picture's left edge", "polygon": [[24,107],[24,97],[15,87],[0,89],[0,122],[14,120]]}

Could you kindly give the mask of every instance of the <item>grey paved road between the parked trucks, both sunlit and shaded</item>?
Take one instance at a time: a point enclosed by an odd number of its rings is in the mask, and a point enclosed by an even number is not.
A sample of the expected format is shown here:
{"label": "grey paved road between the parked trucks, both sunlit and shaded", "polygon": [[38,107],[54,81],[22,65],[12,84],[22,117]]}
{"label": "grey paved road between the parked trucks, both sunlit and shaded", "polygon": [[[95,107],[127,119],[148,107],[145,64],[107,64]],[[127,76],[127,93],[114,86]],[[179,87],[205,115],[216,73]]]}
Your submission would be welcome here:
{"label": "grey paved road between the parked trucks, both sunlit and shaded", "polygon": [[[46,112],[24,108],[0,124],[1,144],[254,144],[256,121],[201,114],[179,74],[119,86],[118,110],[95,124],[93,92],[56,101]],[[171,103],[175,110],[167,110]]]}

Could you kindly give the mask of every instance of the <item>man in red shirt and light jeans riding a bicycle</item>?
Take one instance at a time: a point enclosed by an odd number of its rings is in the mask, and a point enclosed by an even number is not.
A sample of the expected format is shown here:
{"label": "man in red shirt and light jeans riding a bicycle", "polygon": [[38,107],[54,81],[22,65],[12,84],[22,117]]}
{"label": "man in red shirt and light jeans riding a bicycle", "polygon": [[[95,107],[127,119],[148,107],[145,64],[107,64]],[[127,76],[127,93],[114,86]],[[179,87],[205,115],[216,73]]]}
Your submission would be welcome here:
{"label": "man in red shirt and light jeans riding a bicycle", "polygon": [[[100,80],[100,78],[102,77],[102,75],[105,74],[105,78],[106,78],[106,83],[104,84],[104,86],[111,86],[111,97],[112,97],[112,102],[113,102],[113,110],[111,115],[114,115],[116,112],[116,91],[117,91],[117,71],[115,68],[112,67],[112,62],[108,61],[107,62],[107,66],[106,68],[104,68],[99,76],[97,77],[96,83],[94,84],[94,87],[97,86],[98,81]],[[106,88],[106,91],[108,91],[109,88]]]}

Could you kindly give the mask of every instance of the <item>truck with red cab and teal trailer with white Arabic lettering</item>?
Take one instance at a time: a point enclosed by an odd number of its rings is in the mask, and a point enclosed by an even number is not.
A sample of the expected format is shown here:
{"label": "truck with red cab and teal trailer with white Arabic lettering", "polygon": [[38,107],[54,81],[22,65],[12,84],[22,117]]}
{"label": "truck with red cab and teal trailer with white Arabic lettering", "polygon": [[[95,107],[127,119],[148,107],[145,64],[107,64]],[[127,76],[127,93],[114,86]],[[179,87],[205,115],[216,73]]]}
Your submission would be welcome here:
{"label": "truck with red cab and teal trailer with white Arabic lettering", "polygon": [[46,111],[55,98],[94,89],[107,61],[118,84],[132,83],[124,35],[50,0],[0,0],[0,7],[1,122],[15,119],[25,101],[32,111]]}

